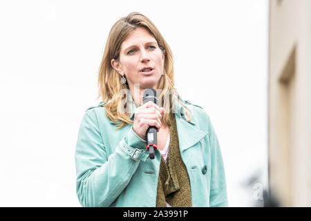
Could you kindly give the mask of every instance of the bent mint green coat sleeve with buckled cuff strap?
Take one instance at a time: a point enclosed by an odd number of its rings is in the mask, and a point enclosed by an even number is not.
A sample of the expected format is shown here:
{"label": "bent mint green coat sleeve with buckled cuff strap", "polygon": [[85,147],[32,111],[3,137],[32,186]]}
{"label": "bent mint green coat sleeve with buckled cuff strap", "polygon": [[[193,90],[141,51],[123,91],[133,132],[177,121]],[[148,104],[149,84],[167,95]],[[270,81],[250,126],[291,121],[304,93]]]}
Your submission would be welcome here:
{"label": "bent mint green coat sleeve with buckled cuff strap", "polygon": [[[113,131],[111,131],[113,133]],[[75,149],[77,198],[82,206],[109,206],[129,184],[140,160],[133,160],[135,148],[146,142],[132,128],[122,138],[115,152],[107,157],[94,109],[84,113]],[[135,151],[139,153],[139,151]]]}

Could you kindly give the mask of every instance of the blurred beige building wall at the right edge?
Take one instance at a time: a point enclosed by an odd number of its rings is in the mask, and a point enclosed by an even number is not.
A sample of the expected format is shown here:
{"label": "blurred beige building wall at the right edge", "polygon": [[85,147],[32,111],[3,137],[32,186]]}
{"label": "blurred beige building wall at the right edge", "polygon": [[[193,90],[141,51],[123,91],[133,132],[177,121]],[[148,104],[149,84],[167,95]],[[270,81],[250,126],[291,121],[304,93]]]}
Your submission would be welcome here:
{"label": "blurred beige building wall at the right edge", "polygon": [[281,206],[311,206],[311,1],[271,0],[269,186]]}

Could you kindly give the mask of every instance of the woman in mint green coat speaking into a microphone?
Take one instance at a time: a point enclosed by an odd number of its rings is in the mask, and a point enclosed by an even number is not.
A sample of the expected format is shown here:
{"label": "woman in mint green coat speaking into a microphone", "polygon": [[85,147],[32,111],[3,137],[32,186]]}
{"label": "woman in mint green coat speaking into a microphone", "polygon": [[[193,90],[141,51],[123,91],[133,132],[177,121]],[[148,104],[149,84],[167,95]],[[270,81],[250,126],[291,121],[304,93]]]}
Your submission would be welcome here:
{"label": "woman in mint green coat speaking into a microphone", "polygon": [[[223,160],[205,111],[173,88],[171,50],[132,12],[111,28],[98,76],[99,106],[82,119],[75,162],[82,206],[227,206]],[[142,103],[154,88],[158,105]],[[149,158],[146,131],[158,130]]]}

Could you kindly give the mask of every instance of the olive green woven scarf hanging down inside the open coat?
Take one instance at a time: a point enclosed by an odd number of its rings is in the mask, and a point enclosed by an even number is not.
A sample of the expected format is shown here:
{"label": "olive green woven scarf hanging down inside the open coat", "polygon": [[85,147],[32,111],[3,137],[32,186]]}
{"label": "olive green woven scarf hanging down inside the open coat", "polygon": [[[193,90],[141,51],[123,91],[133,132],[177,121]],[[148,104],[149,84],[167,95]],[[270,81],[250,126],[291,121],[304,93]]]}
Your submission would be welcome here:
{"label": "olive green woven scarf hanging down inside the open coat", "polygon": [[168,202],[173,207],[189,207],[191,189],[186,166],[180,155],[175,114],[169,114],[169,130],[171,133],[167,162],[161,155],[160,173],[157,189],[157,207],[166,207]]}

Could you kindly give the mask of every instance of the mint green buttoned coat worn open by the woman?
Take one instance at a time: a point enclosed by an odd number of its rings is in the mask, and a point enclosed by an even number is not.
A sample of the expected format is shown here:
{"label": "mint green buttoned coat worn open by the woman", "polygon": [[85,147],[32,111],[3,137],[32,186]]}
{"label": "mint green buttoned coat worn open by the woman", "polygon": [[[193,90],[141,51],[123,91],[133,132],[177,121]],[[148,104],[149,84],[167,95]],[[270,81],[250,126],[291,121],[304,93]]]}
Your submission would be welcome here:
{"label": "mint green buttoned coat worn open by the woman", "polygon": [[[223,158],[214,128],[200,106],[185,104],[192,111],[191,122],[185,120],[178,102],[173,113],[192,204],[227,206]],[[131,110],[134,119],[135,105]],[[156,151],[150,160],[146,142],[132,126],[115,130],[102,102],[84,113],[75,151],[76,191],[82,206],[156,206],[160,153]]]}

